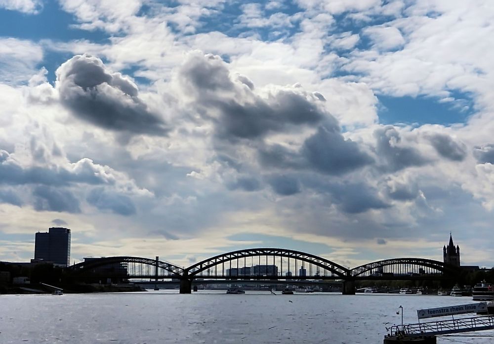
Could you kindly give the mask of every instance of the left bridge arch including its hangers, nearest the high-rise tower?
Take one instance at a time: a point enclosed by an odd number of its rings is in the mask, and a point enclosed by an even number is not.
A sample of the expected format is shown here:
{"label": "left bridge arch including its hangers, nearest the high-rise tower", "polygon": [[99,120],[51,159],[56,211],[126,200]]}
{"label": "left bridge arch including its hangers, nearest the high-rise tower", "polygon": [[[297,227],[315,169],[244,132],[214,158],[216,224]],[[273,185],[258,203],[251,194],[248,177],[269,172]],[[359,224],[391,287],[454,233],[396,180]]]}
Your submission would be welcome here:
{"label": "left bridge arch including its hangers, nearest the high-rise tower", "polygon": [[108,269],[122,270],[129,278],[137,278],[138,276],[179,278],[183,275],[183,268],[174,264],[163,262],[158,259],[129,256],[95,258],[72,265],[68,267],[68,271],[72,275],[81,275],[98,269],[101,271],[102,268],[107,268],[107,271]]}

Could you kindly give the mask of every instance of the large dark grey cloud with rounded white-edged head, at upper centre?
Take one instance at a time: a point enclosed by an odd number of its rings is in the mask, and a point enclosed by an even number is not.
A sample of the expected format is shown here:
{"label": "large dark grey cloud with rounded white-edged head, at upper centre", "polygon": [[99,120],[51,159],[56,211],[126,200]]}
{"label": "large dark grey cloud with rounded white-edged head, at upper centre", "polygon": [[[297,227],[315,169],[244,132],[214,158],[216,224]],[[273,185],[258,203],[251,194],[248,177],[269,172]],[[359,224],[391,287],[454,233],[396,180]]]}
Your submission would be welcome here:
{"label": "large dark grey cloud with rounded white-edged head, at upper centre", "polygon": [[214,122],[218,138],[255,139],[269,132],[316,125],[323,118],[336,122],[316,104],[317,97],[300,90],[278,90],[264,99],[252,92],[253,84],[240,87],[240,82],[231,80],[223,61],[212,55],[191,55],[180,69],[179,80],[204,109],[202,115]]}

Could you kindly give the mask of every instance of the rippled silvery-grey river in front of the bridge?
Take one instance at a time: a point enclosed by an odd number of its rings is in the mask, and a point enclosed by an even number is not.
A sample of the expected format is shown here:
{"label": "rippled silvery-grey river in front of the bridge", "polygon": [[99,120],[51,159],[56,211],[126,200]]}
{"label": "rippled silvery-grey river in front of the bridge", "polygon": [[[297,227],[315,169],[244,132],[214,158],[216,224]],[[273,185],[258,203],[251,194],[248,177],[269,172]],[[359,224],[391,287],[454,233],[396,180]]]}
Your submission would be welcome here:
{"label": "rippled silvery-grey river in front of the bridge", "polygon": [[[399,306],[404,323],[416,323],[417,309],[473,302],[471,297],[435,295],[278,294],[0,295],[0,343],[382,344],[386,327],[401,323]],[[472,335],[492,336],[494,331]],[[439,337],[437,343],[484,344],[491,339]]]}

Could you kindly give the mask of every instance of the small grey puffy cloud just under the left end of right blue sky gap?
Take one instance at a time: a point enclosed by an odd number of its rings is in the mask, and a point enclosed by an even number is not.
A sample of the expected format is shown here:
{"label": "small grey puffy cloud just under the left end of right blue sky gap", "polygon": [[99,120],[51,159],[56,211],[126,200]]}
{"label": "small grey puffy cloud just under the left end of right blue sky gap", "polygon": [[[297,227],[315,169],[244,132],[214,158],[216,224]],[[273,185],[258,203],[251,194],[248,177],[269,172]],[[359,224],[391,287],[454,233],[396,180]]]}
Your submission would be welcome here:
{"label": "small grey puffy cloud just under the left end of right blue sky gap", "polygon": [[399,171],[411,166],[423,166],[429,161],[419,151],[401,145],[400,133],[393,126],[385,126],[374,131],[376,152],[385,161],[382,166],[388,171]]}

